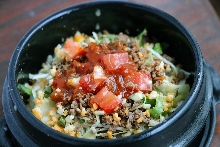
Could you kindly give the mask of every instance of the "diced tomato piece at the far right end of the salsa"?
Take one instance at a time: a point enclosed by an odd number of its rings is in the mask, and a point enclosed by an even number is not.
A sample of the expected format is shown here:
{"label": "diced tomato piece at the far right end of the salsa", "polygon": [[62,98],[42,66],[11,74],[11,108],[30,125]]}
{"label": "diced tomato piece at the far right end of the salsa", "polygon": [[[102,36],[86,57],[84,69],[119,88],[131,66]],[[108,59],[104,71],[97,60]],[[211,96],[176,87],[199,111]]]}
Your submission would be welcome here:
{"label": "diced tomato piece at the far right end of the salsa", "polygon": [[144,72],[132,72],[131,75],[124,78],[125,83],[129,87],[131,84],[136,84],[136,87],[132,87],[140,91],[152,91],[152,79],[149,73]]}

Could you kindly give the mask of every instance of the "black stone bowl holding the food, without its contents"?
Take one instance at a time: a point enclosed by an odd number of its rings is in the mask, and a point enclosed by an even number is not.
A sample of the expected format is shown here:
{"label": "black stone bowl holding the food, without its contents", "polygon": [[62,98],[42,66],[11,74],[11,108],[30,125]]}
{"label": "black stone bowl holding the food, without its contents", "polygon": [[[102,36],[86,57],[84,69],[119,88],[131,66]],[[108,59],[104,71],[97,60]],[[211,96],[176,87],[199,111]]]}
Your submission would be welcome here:
{"label": "black stone bowl holding the food, without its contents", "polygon": [[[101,11],[100,16],[95,14],[97,9]],[[89,140],[53,130],[26,108],[17,88],[18,74],[37,73],[47,55],[53,54],[54,47],[62,43],[62,38],[74,35],[77,30],[85,34],[108,30],[110,33],[127,32],[136,36],[144,28],[147,28],[149,38],[155,37],[159,42],[168,43],[165,53],[175,57],[176,64],[181,64],[184,70],[193,73],[187,80],[191,85],[189,96],[168,119],[129,137]],[[163,11],[125,1],[78,4],[43,19],[21,39],[10,60],[3,90],[3,110],[17,145],[22,146],[187,146],[203,128],[211,106],[215,108],[219,101],[216,86],[219,77],[209,67],[192,34]],[[211,74],[214,76],[211,77]],[[212,78],[218,84],[214,84]],[[212,122],[213,119],[215,117]],[[208,135],[212,139],[213,129]]]}

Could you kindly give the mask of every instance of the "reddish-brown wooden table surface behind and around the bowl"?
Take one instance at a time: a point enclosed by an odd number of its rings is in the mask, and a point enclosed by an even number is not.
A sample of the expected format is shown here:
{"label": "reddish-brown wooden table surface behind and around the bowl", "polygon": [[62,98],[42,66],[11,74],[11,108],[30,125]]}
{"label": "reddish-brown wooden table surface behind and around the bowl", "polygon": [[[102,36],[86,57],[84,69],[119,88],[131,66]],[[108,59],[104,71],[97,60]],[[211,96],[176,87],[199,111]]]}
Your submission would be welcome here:
{"label": "reddish-brown wooden table surface behind and around the bowl", "polygon": [[[0,1],[0,95],[11,55],[24,34],[46,16],[88,0]],[[159,8],[177,18],[194,35],[203,57],[220,74],[220,21],[208,0],[130,0]],[[3,116],[0,97],[0,116]],[[220,105],[216,106],[212,147],[220,146]]]}

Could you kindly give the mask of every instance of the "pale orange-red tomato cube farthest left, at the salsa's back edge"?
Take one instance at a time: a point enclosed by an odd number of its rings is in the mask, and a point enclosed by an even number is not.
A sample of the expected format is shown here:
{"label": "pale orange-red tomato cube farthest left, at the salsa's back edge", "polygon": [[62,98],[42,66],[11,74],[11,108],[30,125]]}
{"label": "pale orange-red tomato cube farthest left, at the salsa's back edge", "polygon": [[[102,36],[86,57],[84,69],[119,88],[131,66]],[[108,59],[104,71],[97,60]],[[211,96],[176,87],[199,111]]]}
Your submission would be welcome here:
{"label": "pale orange-red tomato cube farthest left, at the salsa's back edge", "polygon": [[75,59],[77,56],[85,53],[84,48],[71,39],[66,40],[64,50],[67,52],[71,59]]}

